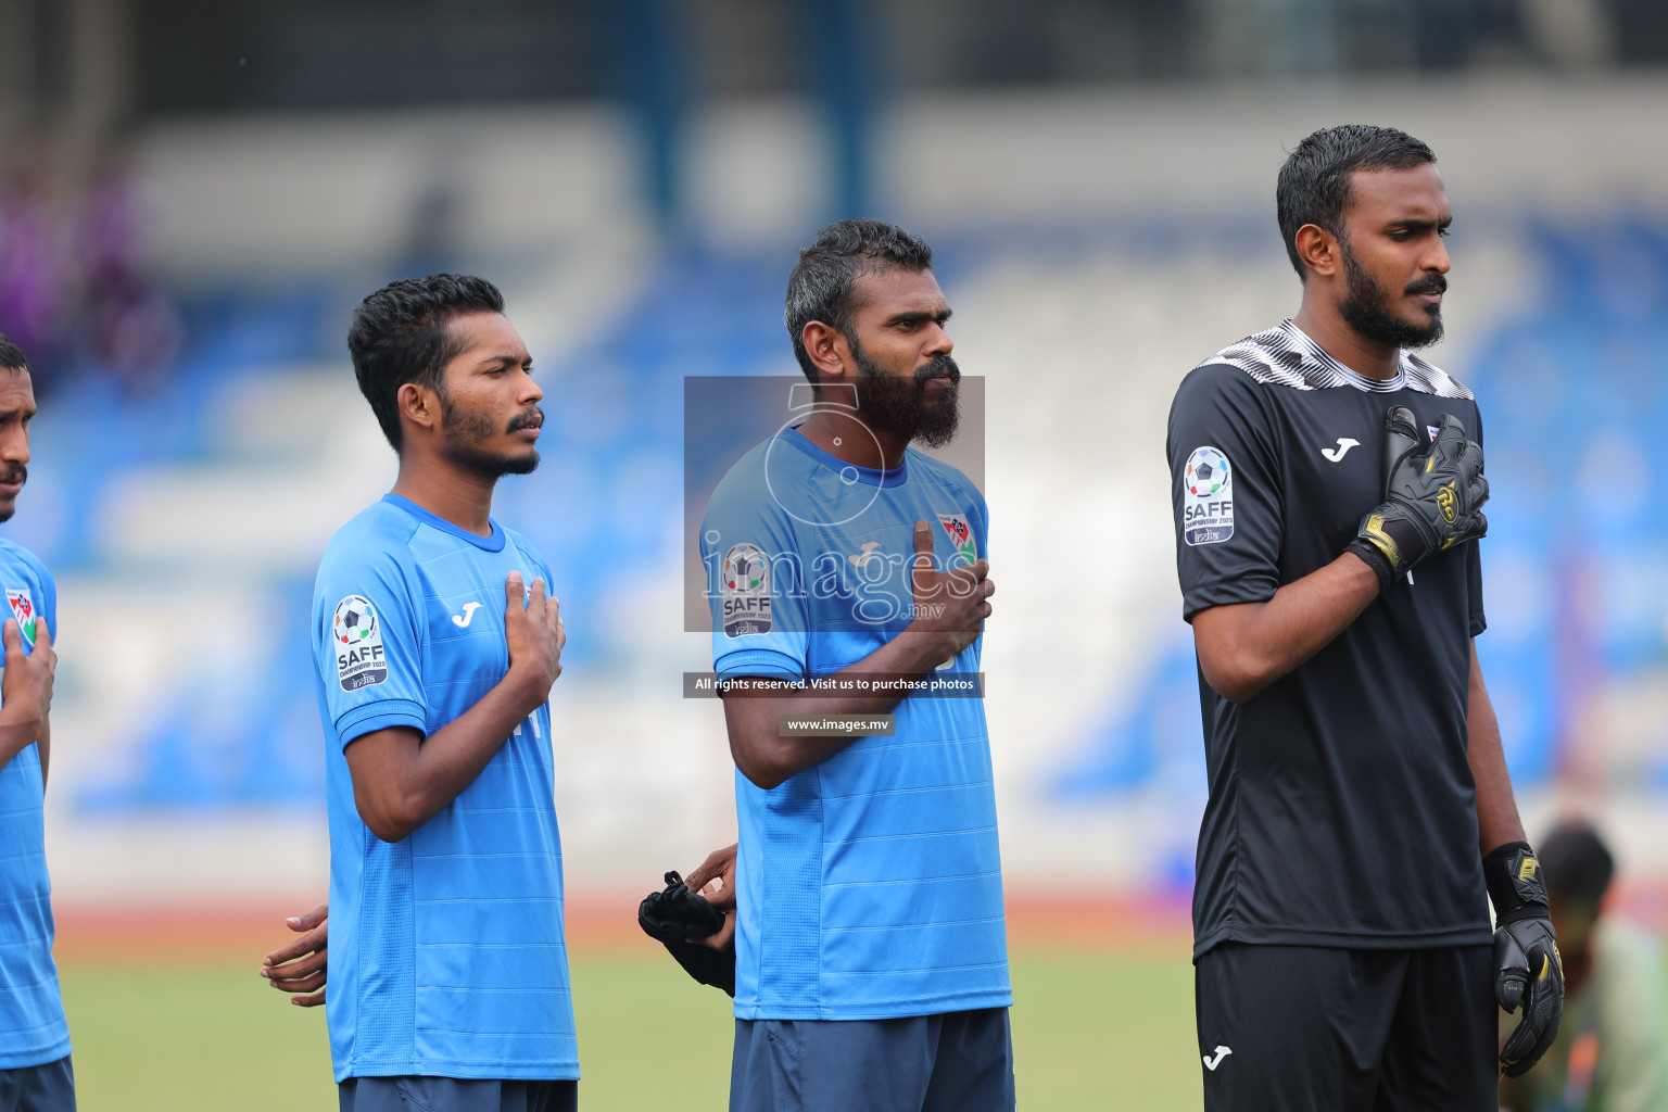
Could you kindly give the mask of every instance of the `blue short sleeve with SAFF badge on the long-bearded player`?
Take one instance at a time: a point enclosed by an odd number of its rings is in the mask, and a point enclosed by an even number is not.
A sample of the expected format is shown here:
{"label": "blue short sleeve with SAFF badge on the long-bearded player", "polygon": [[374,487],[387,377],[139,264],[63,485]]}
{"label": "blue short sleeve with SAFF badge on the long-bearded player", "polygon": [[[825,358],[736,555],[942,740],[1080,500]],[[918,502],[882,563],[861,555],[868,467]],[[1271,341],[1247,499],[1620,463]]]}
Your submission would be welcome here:
{"label": "blue short sleeve with SAFF badge on the long-bearded player", "polygon": [[712,670],[804,680],[812,569],[802,565],[787,510],[766,483],[749,482],[761,458],[747,455],[731,470],[701,522]]}

